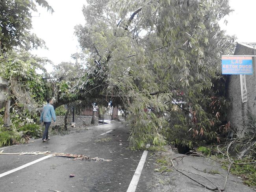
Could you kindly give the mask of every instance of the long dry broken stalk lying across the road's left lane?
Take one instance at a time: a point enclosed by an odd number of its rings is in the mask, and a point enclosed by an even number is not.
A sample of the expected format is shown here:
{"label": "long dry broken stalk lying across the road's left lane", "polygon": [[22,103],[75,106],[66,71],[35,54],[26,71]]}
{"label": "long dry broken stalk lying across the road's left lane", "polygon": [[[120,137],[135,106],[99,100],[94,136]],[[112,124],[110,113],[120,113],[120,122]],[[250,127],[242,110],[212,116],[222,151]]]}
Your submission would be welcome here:
{"label": "long dry broken stalk lying across the road's left lane", "polygon": [[51,153],[51,151],[32,151],[32,152],[22,152],[22,153],[3,153],[4,150],[0,151],[0,155],[54,155],[58,157],[69,157],[73,159],[82,159],[83,161],[85,160],[94,160],[96,162],[98,161],[112,161],[110,159],[103,159],[99,157],[94,157],[91,158],[90,156],[85,156],[85,155],[76,155],[76,154],[70,154],[70,153]]}

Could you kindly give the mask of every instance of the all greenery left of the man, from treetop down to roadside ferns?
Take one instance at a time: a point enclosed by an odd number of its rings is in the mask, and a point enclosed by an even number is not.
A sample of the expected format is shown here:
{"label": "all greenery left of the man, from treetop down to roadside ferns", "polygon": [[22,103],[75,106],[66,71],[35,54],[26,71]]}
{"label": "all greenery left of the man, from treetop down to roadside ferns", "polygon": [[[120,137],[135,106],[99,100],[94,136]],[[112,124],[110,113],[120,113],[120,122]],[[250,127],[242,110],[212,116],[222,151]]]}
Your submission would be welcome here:
{"label": "all greenery left of the man, from treetop down to roadside ferns", "polygon": [[[29,31],[36,4],[53,12],[45,0],[0,1],[0,76],[9,81],[6,105],[0,109],[0,146],[39,137],[41,127],[35,123],[37,112],[45,98],[52,94],[44,68],[50,61],[27,52],[45,45]],[[37,69],[43,74],[37,74]]]}

